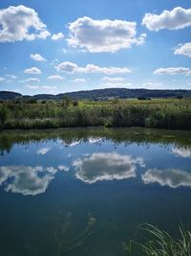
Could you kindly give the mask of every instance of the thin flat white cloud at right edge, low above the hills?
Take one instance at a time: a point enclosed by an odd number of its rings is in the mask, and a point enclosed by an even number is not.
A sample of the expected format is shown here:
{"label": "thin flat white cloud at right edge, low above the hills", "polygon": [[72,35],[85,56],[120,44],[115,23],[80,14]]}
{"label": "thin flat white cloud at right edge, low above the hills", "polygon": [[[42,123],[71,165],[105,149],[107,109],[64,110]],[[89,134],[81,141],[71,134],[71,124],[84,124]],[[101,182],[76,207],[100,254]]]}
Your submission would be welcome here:
{"label": "thin flat white cloud at right edge, low above the hills", "polygon": [[153,72],[154,75],[190,75],[191,69],[188,67],[167,67],[158,68]]}

